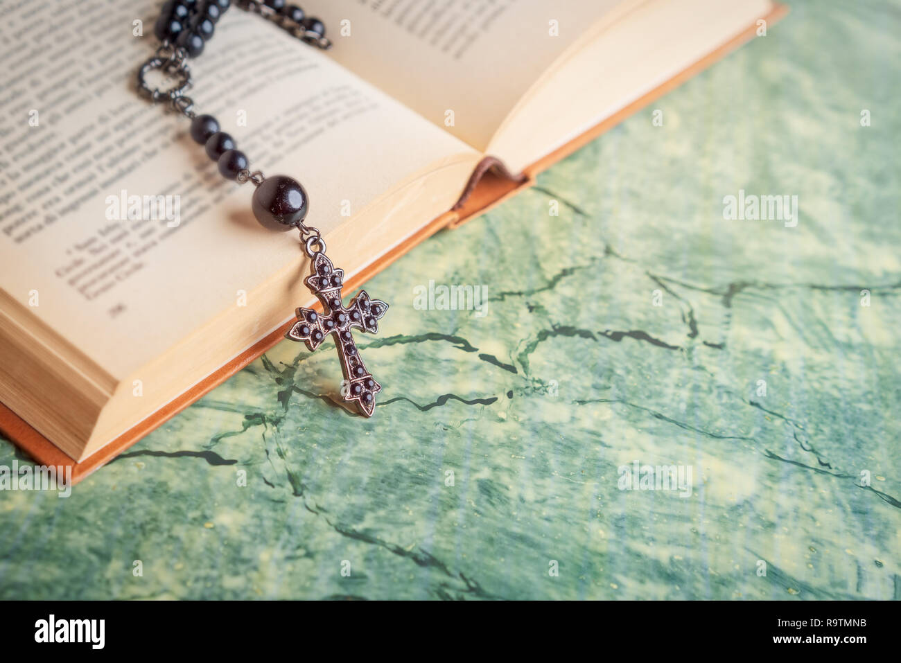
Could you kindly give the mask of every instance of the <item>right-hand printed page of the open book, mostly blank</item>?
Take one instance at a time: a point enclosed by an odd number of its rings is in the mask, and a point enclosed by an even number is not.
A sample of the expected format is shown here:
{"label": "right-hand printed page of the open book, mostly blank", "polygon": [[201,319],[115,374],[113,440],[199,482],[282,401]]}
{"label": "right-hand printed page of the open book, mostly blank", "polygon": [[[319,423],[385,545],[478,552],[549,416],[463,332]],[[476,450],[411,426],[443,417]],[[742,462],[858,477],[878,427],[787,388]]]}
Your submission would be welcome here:
{"label": "right-hand printed page of the open book, mostly blank", "polygon": [[528,89],[568,50],[641,0],[311,0],[333,59],[432,123],[487,150]]}

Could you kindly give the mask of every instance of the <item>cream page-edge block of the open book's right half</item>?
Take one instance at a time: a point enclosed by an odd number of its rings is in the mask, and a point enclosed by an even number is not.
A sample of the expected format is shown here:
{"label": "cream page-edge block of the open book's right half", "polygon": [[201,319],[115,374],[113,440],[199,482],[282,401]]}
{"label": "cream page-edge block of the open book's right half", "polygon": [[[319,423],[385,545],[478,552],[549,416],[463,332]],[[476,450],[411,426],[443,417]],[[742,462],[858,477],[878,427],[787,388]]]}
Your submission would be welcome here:
{"label": "cream page-edge block of the open book's right half", "polygon": [[650,0],[525,95],[487,151],[503,156],[514,172],[526,168],[665,84],[771,9],[769,0]]}

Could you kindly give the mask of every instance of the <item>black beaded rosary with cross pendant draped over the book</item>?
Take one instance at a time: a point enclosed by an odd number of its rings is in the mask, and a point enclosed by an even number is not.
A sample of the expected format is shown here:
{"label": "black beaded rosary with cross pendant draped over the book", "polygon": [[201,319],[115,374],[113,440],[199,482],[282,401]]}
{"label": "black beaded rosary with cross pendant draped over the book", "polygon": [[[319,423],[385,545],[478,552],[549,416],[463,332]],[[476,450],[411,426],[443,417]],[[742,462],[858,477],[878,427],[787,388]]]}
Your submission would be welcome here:
{"label": "black beaded rosary with cross pendant draped over the book", "polygon": [[[191,86],[187,59],[203,52],[205,43],[213,37],[216,22],[231,4],[231,0],[168,0],[154,29],[162,43],[138,71],[138,92],[153,103],[167,102],[177,113],[190,119],[191,138],[205,147],[207,156],[216,162],[223,177],[256,186],[251,206],[263,227],[273,231],[292,228],[300,231],[300,241],[310,259],[310,276],[304,283],[323,304],[323,313],[296,309],[297,322],[286,336],[292,341],[304,341],[309,350],[315,350],[327,334],[333,334],[345,380],[341,394],[346,402],[355,402],[361,413],[372,416],[375,395],[382,387],[359,358],[350,330],[378,332],[378,319],[387,311],[387,304],[369,299],[365,290],[347,306],[341,304],[344,272],[334,268],[332,261],[325,257],[322,233],[304,223],[309,211],[304,186],[292,177],[263,177],[259,170],[251,172],[247,155],[236,149],[232,136],[220,131],[212,115],[196,114],[194,101],[185,95]],[[236,0],[235,4],[277,23],[292,36],[317,48],[327,50],[332,46],[319,19],[305,16],[300,7],[286,5],[285,0]],[[151,88],[146,77],[154,69],[171,77],[175,81],[173,86],[167,90]]]}

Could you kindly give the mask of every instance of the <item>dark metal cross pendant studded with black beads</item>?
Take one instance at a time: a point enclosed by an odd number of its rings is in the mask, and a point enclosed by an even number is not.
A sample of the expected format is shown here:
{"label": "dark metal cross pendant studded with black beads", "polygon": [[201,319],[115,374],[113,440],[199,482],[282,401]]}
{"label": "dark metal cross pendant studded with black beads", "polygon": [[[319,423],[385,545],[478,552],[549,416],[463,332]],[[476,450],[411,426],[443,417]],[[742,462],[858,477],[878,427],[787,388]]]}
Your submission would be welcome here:
{"label": "dark metal cross pendant studded with black beads", "polygon": [[[314,253],[310,261],[310,276],[304,283],[323,303],[323,313],[309,308],[298,308],[297,321],[287,332],[292,341],[304,341],[306,347],[315,350],[334,334],[335,347],[341,359],[341,372],[347,380],[344,400],[356,401],[360,412],[372,416],[376,407],[376,394],[382,386],[376,382],[359,358],[357,344],[353,341],[351,329],[377,333],[378,319],[388,310],[388,305],[378,299],[369,299],[365,290],[350,300],[345,308],[341,304],[341,287],[344,270],[332,267],[332,261],[322,251]],[[328,312],[328,313],[324,313]]]}

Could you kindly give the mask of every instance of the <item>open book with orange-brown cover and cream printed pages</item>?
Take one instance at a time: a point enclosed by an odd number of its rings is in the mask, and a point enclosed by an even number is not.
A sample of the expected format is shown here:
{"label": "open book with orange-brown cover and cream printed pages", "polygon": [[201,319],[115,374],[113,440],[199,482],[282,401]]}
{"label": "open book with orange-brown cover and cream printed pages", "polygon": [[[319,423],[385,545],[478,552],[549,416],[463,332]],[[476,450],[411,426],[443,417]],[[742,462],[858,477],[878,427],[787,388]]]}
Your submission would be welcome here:
{"label": "open book with orange-brown cover and cream printed pages", "polygon": [[[108,459],[314,304],[296,236],[262,229],[252,186],[135,95],[159,4],[0,8],[0,430],[45,463],[51,445]],[[332,50],[233,8],[189,94],[251,169],[305,185],[306,223],[351,284],[778,15],[769,0],[304,8]]]}

